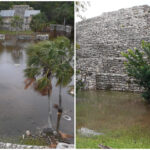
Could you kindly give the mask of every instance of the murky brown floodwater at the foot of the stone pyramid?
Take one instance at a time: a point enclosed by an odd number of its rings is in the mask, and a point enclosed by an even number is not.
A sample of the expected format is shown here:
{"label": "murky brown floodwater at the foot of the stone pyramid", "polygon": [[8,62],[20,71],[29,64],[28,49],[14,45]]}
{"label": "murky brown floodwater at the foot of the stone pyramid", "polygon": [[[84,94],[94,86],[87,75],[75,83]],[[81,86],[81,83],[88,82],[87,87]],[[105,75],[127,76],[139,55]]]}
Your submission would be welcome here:
{"label": "murky brown floodwater at the foot of the stone pyramid", "polygon": [[81,91],[77,96],[77,128],[107,133],[138,126],[150,130],[150,105],[140,94]]}

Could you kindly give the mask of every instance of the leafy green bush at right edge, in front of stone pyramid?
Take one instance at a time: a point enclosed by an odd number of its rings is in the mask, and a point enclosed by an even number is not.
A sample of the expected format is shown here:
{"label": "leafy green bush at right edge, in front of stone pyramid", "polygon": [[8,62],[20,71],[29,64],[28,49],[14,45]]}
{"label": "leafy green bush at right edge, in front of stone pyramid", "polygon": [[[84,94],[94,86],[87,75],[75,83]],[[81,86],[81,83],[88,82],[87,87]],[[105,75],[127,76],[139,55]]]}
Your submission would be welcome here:
{"label": "leafy green bush at right edge, in front of stone pyramid", "polygon": [[144,88],[142,96],[150,102],[150,43],[142,41],[142,49],[129,49],[127,53],[122,55],[127,59],[125,67],[134,82]]}

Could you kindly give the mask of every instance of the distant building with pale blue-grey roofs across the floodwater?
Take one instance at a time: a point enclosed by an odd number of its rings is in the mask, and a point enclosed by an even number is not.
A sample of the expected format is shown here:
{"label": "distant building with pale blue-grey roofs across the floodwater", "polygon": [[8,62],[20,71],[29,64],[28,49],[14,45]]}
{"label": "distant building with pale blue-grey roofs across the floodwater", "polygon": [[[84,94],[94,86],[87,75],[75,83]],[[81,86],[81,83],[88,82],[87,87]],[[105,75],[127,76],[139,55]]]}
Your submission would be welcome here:
{"label": "distant building with pale blue-grey roofs across the floodwater", "polygon": [[11,27],[11,20],[14,16],[19,16],[23,19],[22,29],[17,30],[30,30],[30,22],[33,15],[40,13],[40,10],[33,10],[29,5],[14,5],[10,10],[1,10],[0,16],[3,18],[3,30],[16,30]]}

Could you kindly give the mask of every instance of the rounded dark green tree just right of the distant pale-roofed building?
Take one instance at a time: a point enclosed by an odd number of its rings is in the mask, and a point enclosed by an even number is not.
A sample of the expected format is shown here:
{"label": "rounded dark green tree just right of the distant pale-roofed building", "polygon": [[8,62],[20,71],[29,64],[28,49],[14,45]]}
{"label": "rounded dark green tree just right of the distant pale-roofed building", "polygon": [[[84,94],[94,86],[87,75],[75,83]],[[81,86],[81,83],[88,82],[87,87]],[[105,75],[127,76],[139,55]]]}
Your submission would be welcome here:
{"label": "rounded dark green tree just right of the distant pale-roofed building", "polygon": [[42,31],[46,23],[47,23],[47,18],[45,14],[40,13],[32,17],[32,20],[30,22],[30,28],[34,32]]}

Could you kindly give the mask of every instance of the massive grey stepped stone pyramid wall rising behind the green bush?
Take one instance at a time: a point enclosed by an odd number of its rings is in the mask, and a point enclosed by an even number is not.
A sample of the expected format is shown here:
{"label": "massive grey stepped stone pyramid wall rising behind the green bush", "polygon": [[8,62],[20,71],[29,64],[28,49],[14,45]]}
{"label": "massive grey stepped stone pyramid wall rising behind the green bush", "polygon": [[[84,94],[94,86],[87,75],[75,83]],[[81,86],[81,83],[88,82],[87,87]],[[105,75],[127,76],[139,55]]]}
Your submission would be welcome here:
{"label": "massive grey stepped stone pyramid wall rising behind the green bush", "polygon": [[77,23],[76,29],[77,80],[85,82],[85,89],[142,90],[127,76],[121,52],[150,42],[150,6],[103,13]]}

